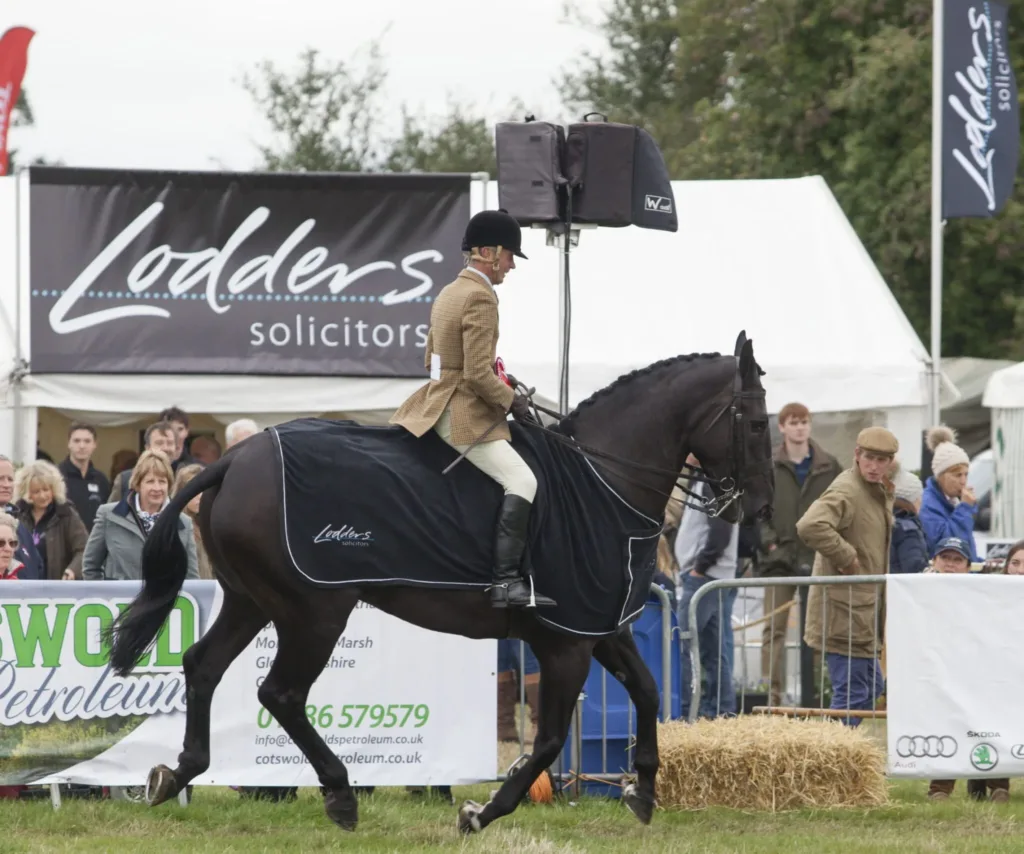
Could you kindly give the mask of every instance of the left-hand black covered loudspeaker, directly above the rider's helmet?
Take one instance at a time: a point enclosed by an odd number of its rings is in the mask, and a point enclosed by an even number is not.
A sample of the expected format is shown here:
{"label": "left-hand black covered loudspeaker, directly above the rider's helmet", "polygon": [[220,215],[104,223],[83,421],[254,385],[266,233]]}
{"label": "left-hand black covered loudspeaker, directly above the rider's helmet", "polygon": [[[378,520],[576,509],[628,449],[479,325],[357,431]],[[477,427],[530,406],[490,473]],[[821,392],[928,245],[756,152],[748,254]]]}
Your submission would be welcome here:
{"label": "left-hand black covered loudspeaker, directly above the rider's helmet", "polygon": [[498,207],[520,225],[564,220],[564,129],[532,121],[532,117],[525,122],[502,122],[496,130],[495,147]]}

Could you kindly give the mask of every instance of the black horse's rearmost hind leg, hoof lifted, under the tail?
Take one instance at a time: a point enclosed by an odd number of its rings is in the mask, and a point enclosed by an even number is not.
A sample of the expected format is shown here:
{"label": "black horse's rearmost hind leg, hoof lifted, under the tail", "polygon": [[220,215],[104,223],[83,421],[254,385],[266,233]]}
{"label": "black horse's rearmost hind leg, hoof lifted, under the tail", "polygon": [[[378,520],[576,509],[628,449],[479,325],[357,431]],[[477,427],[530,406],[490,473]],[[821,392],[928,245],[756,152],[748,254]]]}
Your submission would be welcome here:
{"label": "black horse's rearmost hind leg, hoof lifted, under the tail", "polygon": [[150,772],[146,800],[152,806],[175,797],[210,767],[210,704],[224,672],[267,624],[255,604],[224,589],[220,613],[210,630],[182,656],[185,674],[185,737],[178,767],[158,765]]}

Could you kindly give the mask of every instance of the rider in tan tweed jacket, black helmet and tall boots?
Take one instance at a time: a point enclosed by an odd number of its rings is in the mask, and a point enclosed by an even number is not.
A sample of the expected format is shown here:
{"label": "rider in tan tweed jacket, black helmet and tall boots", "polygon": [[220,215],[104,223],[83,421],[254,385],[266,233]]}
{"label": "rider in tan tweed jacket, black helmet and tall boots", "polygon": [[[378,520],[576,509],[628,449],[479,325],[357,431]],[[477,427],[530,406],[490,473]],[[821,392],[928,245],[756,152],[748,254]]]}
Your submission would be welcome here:
{"label": "rider in tan tweed jacket, black helmet and tall boots", "polygon": [[521,246],[519,223],[504,210],[470,219],[462,241],[466,267],[441,289],[430,310],[425,353],[430,379],[391,418],[416,436],[435,430],[460,454],[469,449],[466,459],[505,489],[490,588],[496,608],[555,604],[535,594],[521,572],[537,478],[512,447],[506,416],[528,418],[529,404],[499,378],[496,359],[495,287],[515,269],[513,256],[526,258]]}

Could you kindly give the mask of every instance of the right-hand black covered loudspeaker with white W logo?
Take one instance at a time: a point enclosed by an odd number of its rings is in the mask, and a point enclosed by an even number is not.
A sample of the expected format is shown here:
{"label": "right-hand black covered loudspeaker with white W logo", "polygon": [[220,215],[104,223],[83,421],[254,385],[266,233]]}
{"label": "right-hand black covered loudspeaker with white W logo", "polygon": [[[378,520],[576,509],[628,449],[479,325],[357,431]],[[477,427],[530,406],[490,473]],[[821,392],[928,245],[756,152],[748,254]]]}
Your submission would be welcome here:
{"label": "right-hand black covered loudspeaker with white W logo", "polygon": [[678,230],[676,199],[657,143],[634,125],[587,121],[594,115],[569,125],[565,137],[572,221]]}

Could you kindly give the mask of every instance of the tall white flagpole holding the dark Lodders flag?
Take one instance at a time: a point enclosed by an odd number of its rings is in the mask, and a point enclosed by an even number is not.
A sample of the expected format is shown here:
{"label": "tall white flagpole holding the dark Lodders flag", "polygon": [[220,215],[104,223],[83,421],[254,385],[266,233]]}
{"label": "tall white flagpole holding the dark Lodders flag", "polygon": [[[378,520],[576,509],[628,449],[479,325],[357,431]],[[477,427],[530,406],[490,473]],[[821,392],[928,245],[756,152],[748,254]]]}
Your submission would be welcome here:
{"label": "tall white flagpole holding the dark Lodders flag", "polygon": [[928,418],[942,418],[942,40],[945,0],[933,0],[932,12],[932,371]]}

